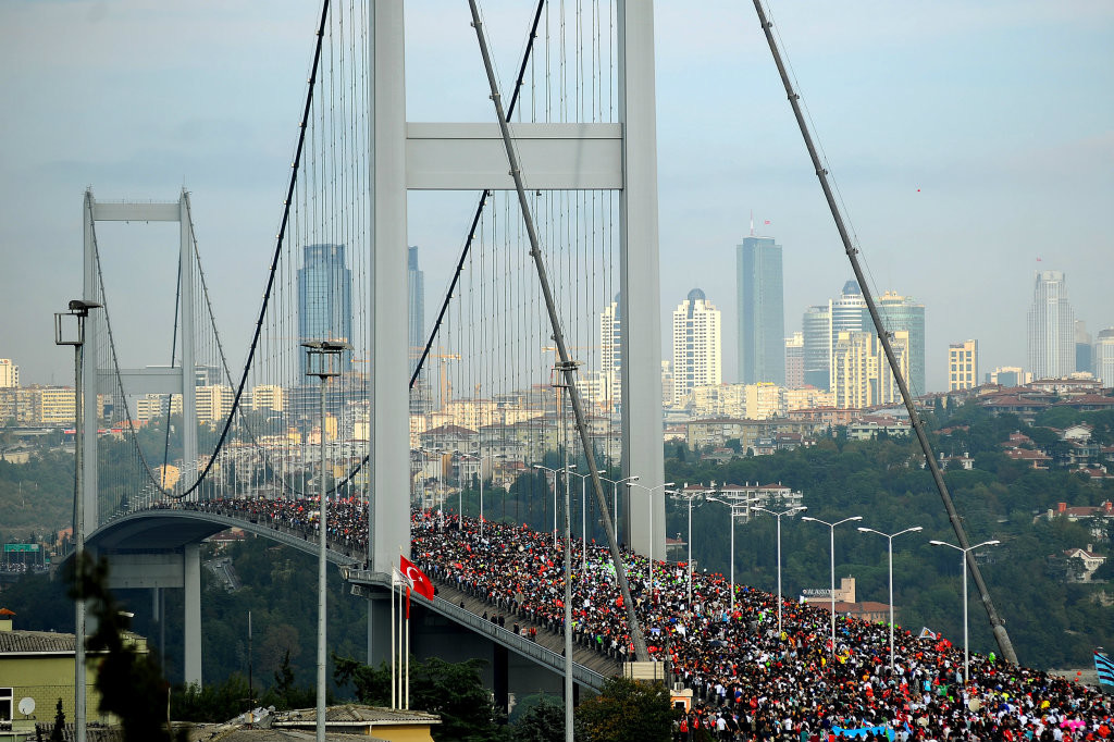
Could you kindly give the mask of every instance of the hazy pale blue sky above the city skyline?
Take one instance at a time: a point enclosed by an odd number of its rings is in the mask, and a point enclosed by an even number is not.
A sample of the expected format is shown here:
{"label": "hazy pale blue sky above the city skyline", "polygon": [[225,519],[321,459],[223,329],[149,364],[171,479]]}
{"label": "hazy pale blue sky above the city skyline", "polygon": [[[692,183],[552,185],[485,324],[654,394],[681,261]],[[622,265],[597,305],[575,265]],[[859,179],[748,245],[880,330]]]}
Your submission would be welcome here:
{"label": "hazy pale blue sky above the city skyline", "polygon": [[[407,4],[408,117],[490,120],[467,3]],[[509,62],[532,2],[481,4]],[[733,381],[734,245],[751,209],[784,246],[786,332],[851,272],[751,3],[655,4],[663,323],[703,289],[724,313]],[[0,1],[0,358],[25,383],[71,381],[51,322],[80,294],[87,186],[104,201],[190,191],[218,320],[242,357],[317,6]],[[1067,274],[1092,333],[1114,325],[1114,4],[778,1],[772,12],[874,289],[927,306],[929,390],[945,385],[949,342],[978,339],[984,371],[1025,363],[1035,269]],[[457,250],[468,207],[432,219],[414,204],[410,242]],[[125,360],[165,363],[174,228],[98,235],[109,290],[135,302]],[[431,263],[430,302],[447,280]]]}

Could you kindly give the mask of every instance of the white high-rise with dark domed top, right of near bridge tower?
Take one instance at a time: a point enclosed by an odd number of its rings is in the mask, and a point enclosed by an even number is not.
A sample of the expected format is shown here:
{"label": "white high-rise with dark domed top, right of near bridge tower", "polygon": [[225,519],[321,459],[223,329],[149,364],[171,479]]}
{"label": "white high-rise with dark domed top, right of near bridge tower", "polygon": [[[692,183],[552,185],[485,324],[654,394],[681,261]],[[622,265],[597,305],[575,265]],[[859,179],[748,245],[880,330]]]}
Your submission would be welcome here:
{"label": "white high-rise with dark domed top, right of near bridge tower", "polygon": [[673,312],[673,404],[684,404],[693,387],[720,383],[720,310],[693,289]]}

